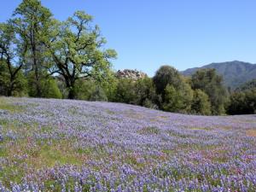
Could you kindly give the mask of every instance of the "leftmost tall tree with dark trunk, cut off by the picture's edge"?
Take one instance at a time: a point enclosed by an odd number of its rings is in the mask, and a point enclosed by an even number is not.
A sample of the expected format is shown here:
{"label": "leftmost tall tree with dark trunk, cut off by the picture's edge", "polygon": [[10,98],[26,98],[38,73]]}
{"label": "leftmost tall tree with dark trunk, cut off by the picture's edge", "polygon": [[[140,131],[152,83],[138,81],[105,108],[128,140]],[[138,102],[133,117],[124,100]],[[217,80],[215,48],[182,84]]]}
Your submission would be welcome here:
{"label": "leftmost tall tree with dark trunk, cut off by the picture's edge", "polygon": [[16,38],[12,23],[0,24],[0,86],[5,96],[15,96],[24,92],[26,81],[21,71],[26,54],[26,44]]}

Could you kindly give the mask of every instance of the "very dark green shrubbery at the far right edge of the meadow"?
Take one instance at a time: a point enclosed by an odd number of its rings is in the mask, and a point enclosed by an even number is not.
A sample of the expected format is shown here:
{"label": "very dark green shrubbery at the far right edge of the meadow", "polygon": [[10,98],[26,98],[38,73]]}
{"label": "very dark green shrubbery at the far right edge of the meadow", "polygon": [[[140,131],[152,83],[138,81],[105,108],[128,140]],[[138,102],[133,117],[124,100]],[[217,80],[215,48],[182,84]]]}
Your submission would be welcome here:
{"label": "very dark green shrubbery at the far right edge of the meadow", "polygon": [[231,94],[227,111],[230,114],[256,113],[256,89]]}

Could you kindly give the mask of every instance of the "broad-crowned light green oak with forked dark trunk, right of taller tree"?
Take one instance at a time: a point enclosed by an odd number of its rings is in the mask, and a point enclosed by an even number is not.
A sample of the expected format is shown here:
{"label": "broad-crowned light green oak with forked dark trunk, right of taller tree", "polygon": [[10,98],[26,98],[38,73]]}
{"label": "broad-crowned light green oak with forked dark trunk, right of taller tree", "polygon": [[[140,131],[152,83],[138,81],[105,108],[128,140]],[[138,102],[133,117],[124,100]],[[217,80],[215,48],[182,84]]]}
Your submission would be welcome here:
{"label": "broad-crowned light green oak with forked dark trunk, right of taller tree", "polygon": [[[115,58],[113,49],[102,50],[106,40],[101,37],[98,26],[91,26],[92,17],[77,11],[66,22],[55,22],[52,39],[44,44],[55,61],[50,73],[59,73],[69,91],[68,98],[75,97],[78,79],[104,80],[109,74],[110,60]],[[53,25],[53,24],[52,24]]]}

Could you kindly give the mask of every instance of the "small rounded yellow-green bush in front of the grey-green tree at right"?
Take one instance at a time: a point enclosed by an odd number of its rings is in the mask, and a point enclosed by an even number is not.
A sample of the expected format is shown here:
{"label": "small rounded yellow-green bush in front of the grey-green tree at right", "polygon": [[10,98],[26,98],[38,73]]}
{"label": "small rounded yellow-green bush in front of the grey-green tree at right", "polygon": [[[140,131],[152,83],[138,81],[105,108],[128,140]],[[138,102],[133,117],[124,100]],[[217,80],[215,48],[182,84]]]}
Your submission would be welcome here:
{"label": "small rounded yellow-green bush in front of the grey-green tree at right", "polygon": [[212,113],[211,102],[209,101],[209,97],[202,90],[194,91],[191,112],[203,115],[210,115]]}

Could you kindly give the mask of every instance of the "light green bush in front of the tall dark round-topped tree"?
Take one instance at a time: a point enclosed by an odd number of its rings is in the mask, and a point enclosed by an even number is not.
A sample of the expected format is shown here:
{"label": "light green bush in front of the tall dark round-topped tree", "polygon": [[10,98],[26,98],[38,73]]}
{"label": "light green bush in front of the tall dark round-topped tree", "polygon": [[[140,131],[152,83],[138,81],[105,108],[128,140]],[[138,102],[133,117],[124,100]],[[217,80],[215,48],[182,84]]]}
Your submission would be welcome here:
{"label": "light green bush in front of the tall dark round-topped tree", "polygon": [[176,89],[172,84],[168,84],[165,94],[164,110],[178,113],[190,112],[193,90],[191,90],[189,84],[183,83],[179,89]]}

